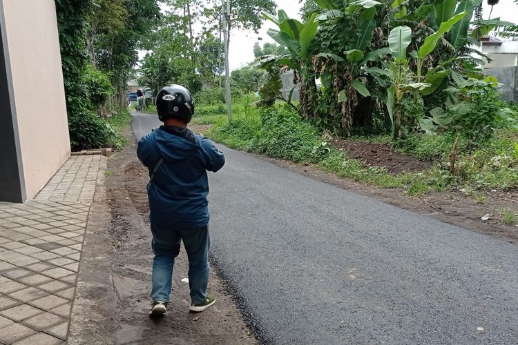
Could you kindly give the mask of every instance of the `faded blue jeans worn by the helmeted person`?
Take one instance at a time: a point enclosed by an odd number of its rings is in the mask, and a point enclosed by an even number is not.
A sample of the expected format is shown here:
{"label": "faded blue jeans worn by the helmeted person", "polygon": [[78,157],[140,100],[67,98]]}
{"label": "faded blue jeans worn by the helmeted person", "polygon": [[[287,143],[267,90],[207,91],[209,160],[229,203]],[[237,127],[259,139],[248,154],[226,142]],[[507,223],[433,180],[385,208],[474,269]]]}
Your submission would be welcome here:
{"label": "faded blue jeans worn by the helmeted person", "polygon": [[151,228],[153,241],[153,302],[169,302],[175,257],[180,253],[180,242],[189,259],[189,288],[191,303],[200,304],[207,298],[209,283],[209,226],[189,230],[158,230]]}

